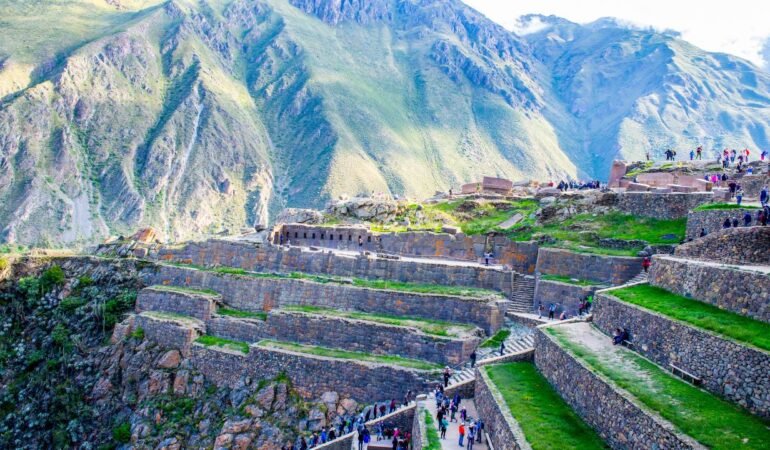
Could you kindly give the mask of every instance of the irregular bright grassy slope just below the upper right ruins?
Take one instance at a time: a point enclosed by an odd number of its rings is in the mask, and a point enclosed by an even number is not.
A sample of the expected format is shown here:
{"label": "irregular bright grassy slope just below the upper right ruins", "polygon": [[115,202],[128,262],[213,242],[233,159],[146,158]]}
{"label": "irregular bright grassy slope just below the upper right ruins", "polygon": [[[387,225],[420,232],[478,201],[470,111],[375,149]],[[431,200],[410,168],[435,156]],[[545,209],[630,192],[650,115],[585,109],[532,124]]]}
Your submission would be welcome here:
{"label": "irregular bright grassy slope just below the upper right ruins", "polygon": [[642,240],[649,244],[678,244],[684,239],[687,219],[662,220],[611,212],[601,215],[579,214],[568,219],[537,226],[515,226],[505,235],[515,241],[548,235],[551,246],[569,250],[618,256],[636,256],[643,246],[630,249],[603,248],[600,239]]}

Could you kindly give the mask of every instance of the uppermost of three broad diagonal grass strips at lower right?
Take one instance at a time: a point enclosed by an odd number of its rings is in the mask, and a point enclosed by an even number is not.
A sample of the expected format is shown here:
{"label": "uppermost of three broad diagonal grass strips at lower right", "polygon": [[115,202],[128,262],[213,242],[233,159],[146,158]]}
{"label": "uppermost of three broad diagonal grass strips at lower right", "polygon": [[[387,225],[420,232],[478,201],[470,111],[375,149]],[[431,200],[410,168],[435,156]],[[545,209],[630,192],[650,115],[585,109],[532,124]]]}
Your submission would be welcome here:
{"label": "uppermost of three broad diagonal grass strips at lower right", "polygon": [[770,324],[719,309],[708,303],[672,294],[664,289],[639,284],[615,289],[609,294],[625,302],[659,312],[739,342],[770,351]]}

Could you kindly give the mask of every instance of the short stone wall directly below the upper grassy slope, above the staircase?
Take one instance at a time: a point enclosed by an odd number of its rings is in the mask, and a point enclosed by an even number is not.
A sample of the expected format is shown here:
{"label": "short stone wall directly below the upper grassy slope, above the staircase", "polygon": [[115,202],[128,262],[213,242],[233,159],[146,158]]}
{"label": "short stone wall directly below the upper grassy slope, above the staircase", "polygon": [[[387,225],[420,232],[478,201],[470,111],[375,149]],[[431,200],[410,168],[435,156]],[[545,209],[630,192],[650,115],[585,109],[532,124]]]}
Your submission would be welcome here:
{"label": "short stone wall directly below the upper grassy slope, above the staircase", "polygon": [[600,256],[541,248],[537,257],[537,271],[616,286],[626,283],[642,271],[642,258]]}

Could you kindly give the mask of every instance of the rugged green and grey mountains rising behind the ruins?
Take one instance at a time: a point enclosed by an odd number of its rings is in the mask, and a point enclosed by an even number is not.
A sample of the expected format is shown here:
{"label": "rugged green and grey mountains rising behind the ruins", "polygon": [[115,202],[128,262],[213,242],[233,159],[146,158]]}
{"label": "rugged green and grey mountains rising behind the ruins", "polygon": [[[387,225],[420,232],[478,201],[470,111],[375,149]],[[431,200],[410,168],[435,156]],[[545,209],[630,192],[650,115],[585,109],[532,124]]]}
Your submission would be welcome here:
{"label": "rugged green and grey mountains rising behind the ruins", "polygon": [[609,20],[518,36],[455,0],[0,12],[2,241],[178,241],[342,194],[602,178],[648,147],[765,146],[770,127],[760,69]]}

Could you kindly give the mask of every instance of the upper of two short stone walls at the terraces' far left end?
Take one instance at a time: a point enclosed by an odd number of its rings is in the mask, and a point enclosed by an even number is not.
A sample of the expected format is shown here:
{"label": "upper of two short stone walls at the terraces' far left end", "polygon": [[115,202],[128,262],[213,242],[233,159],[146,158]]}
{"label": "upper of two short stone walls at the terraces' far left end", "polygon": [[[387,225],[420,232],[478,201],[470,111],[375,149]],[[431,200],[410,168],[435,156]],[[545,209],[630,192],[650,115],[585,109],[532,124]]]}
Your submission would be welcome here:
{"label": "upper of two short stone walls at the terraces' far left end", "polygon": [[206,321],[216,310],[216,300],[221,301],[222,297],[149,287],[139,291],[136,312],[162,311]]}

